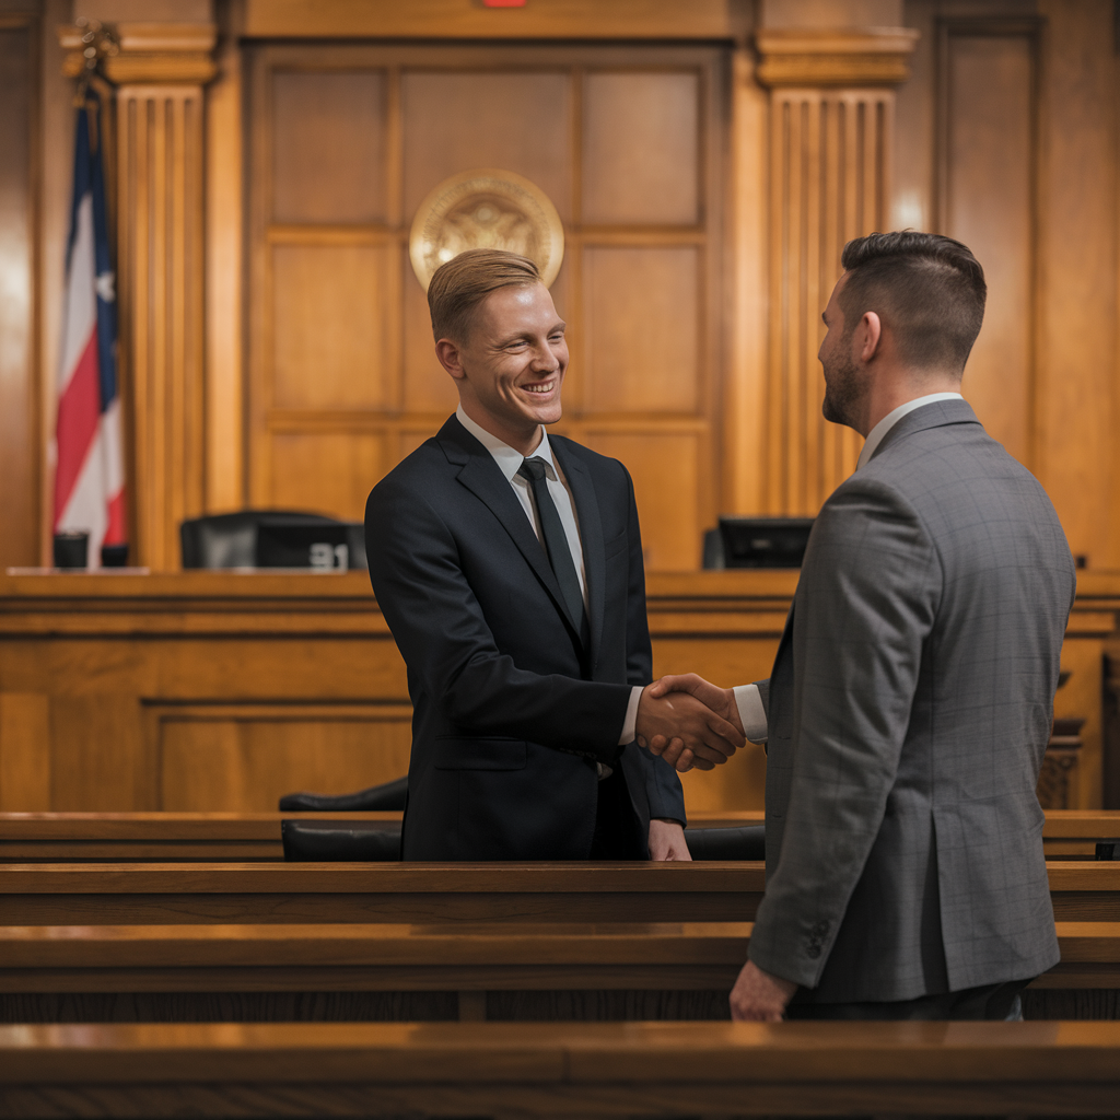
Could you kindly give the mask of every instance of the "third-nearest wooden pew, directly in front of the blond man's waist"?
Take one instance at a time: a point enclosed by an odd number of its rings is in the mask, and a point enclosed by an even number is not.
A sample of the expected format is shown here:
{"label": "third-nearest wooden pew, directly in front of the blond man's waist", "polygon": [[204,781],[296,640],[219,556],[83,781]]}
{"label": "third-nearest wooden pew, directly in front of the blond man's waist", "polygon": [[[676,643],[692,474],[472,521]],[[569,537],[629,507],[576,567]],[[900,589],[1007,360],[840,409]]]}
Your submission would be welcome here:
{"label": "third-nearest wooden pew, directly in front of the blond man's waist", "polygon": [[[1120,862],[1047,865],[1060,922],[1120,921]],[[749,922],[760,862],[3,864],[0,925]]]}

